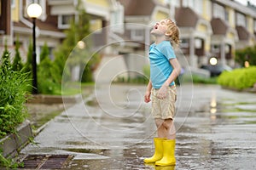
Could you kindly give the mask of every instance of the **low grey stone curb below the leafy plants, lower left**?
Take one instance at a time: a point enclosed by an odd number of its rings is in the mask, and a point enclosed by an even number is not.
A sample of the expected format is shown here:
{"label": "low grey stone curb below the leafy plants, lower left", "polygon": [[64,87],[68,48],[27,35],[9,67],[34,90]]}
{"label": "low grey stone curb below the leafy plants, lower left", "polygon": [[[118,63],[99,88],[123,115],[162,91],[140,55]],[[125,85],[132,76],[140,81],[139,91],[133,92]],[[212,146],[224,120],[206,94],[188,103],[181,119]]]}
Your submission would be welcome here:
{"label": "low grey stone curb below the leafy plants, lower left", "polygon": [[30,138],[32,138],[32,128],[30,122],[26,120],[17,127],[17,133],[9,134],[0,139],[0,149],[3,150],[3,156],[17,156],[19,150],[29,143]]}

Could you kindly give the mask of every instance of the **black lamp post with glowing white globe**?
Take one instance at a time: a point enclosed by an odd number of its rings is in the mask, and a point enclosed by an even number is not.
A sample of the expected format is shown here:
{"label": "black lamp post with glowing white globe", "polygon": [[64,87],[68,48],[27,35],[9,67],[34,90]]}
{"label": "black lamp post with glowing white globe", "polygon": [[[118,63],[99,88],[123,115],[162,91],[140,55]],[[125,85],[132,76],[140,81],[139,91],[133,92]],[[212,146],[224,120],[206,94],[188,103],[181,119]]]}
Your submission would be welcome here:
{"label": "black lamp post with glowing white globe", "polygon": [[38,76],[37,76],[37,53],[36,53],[36,19],[42,14],[42,7],[38,3],[30,4],[26,12],[33,23],[33,52],[32,52],[32,94],[38,94]]}

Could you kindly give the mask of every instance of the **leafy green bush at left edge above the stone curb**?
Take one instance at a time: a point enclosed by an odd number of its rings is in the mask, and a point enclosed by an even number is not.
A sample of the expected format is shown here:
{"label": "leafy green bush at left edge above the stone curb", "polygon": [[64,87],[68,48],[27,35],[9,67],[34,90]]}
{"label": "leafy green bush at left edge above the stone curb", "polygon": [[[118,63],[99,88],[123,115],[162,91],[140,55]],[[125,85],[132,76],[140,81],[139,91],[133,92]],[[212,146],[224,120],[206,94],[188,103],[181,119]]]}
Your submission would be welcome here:
{"label": "leafy green bush at left edge above the stone curb", "polygon": [[0,138],[15,133],[15,127],[26,118],[27,74],[12,71],[11,65],[0,69]]}

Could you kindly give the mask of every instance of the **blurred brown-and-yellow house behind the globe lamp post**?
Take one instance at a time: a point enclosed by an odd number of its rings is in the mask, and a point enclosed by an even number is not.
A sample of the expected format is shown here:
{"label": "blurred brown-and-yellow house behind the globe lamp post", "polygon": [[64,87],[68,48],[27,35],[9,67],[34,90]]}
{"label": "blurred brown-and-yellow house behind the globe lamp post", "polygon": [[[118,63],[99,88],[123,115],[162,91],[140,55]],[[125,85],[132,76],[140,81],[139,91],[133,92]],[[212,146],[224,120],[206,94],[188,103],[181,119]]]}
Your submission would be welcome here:
{"label": "blurred brown-and-yellow house behind the globe lamp post", "polygon": [[[69,21],[77,19],[79,0],[0,0],[0,50],[3,51],[7,43],[11,55],[14,55],[14,44],[19,37],[20,53],[26,59],[26,52],[32,41],[32,20],[26,14],[26,8],[31,3],[39,3],[43,13],[36,20],[37,54],[40,54],[44,42],[47,42],[50,58],[53,59],[53,50],[66,37],[64,31],[69,28]],[[116,11],[121,7],[115,0],[80,0],[82,8],[90,14],[92,39],[97,43],[107,43],[108,32],[102,28],[113,23]],[[114,34],[112,34],[114,35]],[[39,58],[37,56],[39,62]]]}

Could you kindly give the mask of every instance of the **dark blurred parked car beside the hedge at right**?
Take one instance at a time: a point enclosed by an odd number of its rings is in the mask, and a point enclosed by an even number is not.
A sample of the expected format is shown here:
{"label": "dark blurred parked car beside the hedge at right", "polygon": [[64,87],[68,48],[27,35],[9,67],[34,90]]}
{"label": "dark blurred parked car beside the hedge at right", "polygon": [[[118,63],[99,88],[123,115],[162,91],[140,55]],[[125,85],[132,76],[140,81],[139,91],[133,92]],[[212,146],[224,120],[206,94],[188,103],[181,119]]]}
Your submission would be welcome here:
{"label": "dark blurred parked car beside the hedge at right", "polygon": [[211,77],[218,77],[223,71],[232,71],[233,69],[229,65],[202,65],[201,69],[210,71]]}

